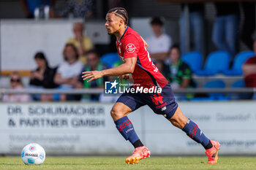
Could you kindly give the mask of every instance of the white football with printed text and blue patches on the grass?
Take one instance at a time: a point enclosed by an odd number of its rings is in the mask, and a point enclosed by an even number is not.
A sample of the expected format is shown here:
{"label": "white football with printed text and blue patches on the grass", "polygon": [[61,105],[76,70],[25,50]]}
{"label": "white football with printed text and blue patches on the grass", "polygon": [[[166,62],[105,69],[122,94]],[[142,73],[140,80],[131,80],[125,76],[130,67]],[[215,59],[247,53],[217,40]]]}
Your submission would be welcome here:
{"label": "white football with printed text and blue patches on the grass", "polygon": [[26,165],[41,165],[45,161],[45,150],[40,144],[27,144],[21,151],[21,159]]}

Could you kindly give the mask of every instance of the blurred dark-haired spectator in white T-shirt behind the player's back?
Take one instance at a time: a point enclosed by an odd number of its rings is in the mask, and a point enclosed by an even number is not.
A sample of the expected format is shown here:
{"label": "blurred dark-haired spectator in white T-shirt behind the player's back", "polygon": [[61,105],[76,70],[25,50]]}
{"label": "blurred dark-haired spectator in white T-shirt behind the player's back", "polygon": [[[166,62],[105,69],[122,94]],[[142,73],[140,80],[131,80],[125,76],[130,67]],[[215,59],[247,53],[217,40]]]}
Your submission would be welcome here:
{"label": "blurred dark-haired spectator in white T-shirt behind the player's back", "polygon": [[148,43],[148,52],[151,58],[165,61],[168,50],[172,45],[172,39],[163,32],[163,26],[164,23],[160,18],[153,18],[151,20],[151,28],[154,35],[148,37],[146,42]]}

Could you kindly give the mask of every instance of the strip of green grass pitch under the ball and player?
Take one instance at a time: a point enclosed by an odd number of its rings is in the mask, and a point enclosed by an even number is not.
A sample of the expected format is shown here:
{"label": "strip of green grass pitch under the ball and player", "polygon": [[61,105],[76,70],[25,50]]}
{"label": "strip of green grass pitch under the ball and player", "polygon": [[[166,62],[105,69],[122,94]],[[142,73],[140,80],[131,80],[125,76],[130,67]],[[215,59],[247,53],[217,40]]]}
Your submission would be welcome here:
{"label": "strip of green grass pitch under the ball and player", "polygon": [[40,166],[26,166],[20,157],[0,157],[0,169],[256,169],[256,157],[220,157],[208,165],[205,157],[151,157],[135,165],[124,163],[125,157],[46,157]]}

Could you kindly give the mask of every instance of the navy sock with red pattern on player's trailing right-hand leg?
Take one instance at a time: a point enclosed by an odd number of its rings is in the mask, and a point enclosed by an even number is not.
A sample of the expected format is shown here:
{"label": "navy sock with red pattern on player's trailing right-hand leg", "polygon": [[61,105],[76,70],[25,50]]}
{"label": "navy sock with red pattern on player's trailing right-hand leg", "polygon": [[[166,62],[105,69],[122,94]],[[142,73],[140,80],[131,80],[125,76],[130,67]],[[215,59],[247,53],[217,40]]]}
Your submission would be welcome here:
{"label": "navy sock with red pattern on player's trailing right-hand leg", "polygon": [[187,124],[182,129],[187,136],[193,139],[195,142],[200,143],[207,150],[212,147],[211,141],[203,134],[203,131],[198,128],[192,120],[188,120]]}

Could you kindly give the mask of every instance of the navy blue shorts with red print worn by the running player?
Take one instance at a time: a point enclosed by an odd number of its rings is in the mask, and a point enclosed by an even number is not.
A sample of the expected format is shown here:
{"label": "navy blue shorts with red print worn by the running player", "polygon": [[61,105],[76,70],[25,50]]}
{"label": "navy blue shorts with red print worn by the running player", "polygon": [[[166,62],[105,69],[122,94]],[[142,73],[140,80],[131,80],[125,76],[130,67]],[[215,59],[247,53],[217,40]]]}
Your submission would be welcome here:
{"label": "navy blue shorts with red print worn by the running player", "polygon": [[178,107],[169,84],[162,88],[162,93],[123,93],[116,102],[127,105],[132,111],[148,105],[155,113],[167,119],[173,117]]}

